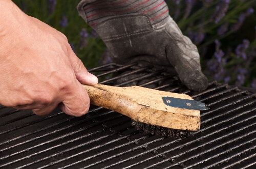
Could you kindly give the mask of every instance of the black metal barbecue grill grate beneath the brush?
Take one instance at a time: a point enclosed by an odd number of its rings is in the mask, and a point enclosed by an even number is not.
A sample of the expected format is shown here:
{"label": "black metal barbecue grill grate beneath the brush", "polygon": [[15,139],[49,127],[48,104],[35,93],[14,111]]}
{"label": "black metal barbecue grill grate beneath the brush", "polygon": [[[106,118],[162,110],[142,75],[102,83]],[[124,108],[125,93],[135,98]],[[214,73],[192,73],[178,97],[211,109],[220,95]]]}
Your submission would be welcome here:
{"label": "black metal barbecue grill grate beneath the brush", "polygon": [[[90,72],[105,85],[137,83],[206,103],[210,109],[201,111],[199,131],[186,138],[147,134],[130,118],[94,105],[83,117],[59,109],[40,117],[1,106],[0,168],[255,168],[254,90],[211,81],[205,91],[193,92],[164,69],[136,64],[111,63]],[[137,76],[120,81],[131,75]]]}

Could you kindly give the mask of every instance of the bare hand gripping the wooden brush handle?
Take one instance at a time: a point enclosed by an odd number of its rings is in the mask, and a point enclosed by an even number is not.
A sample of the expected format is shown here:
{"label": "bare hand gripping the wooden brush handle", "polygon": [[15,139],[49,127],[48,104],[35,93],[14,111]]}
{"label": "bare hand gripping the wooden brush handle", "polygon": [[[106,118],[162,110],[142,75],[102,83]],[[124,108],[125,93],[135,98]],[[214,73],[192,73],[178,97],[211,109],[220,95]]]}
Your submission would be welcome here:
{"label": "bare hand gripping the wooden brush handle", "polygon": [[81,83],[95,85],[65,35],[0,2],[0,103],[47,115],[58,105],[68,115],[82,116],[90,99]]}

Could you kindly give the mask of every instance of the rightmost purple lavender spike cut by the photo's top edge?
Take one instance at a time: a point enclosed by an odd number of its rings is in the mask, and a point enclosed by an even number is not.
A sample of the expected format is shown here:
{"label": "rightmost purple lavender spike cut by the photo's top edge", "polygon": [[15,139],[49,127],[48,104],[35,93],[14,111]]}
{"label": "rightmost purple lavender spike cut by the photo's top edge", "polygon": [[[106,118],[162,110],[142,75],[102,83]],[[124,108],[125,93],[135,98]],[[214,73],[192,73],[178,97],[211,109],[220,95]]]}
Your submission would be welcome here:
{"label": "rightmost purple lavender spike cut by the photo's top edge", "polygon": [[211,16],[211,19],[213,19],[215,23],[218,23],[226,15],[229,3],[230,0],[222,0],[216,7],[214,15]]}

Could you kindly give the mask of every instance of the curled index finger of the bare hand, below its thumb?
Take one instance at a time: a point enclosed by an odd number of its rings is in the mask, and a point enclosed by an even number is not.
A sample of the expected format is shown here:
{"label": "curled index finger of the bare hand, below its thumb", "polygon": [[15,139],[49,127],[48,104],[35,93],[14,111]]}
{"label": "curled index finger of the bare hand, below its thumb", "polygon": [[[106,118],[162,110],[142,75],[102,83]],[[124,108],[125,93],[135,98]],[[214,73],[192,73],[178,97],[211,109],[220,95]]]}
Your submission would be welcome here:
{"label": "curled index finger of the bare hand, below its thumb", "polygon": [[90,107],[90,98],[86,90],[77,80],[70,90],[70,94],[59,104],[59,108],[71,116],[79,117],[86,114]]}

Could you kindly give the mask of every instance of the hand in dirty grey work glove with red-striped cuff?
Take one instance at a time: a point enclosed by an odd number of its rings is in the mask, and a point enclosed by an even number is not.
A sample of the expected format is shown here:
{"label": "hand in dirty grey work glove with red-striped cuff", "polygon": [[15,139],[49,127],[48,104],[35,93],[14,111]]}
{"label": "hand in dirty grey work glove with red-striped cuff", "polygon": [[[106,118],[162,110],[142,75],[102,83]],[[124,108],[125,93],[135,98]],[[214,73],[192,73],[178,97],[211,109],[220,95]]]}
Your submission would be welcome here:
{"label": "hand in dirty grey work glove with red-striped cuff", "polygon": [[115,63],[173,67],[189,89],[207,88],[197,47],[182,35],[164,1],[82,0],[77,9],[102,38]]}

